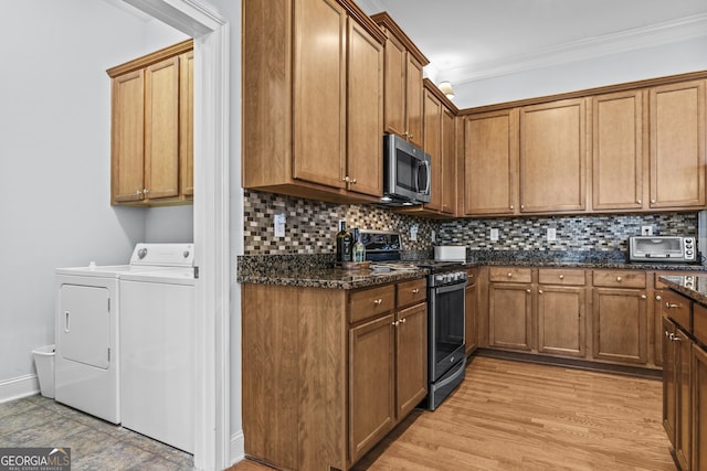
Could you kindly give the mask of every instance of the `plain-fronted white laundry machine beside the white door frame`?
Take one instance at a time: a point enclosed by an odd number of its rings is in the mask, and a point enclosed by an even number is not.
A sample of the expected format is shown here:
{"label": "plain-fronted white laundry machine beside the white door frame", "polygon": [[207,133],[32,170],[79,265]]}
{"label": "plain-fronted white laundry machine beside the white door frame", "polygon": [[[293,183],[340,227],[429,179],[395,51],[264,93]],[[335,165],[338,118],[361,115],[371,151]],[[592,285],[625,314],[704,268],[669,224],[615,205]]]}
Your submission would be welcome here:
{"label": "plain-fronted white laundry machine beside the white door frame", "polygon": [[194,449],[194,270],[120,279],[123,427]]}

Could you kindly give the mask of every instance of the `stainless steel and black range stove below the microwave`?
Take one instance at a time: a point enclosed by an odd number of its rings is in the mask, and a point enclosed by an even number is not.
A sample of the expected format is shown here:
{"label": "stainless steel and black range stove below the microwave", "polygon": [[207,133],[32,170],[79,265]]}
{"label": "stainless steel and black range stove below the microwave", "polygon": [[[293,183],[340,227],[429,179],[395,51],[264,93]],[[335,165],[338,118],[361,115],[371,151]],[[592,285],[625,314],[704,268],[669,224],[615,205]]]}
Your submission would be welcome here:
{"label": "stainless steel and black range stove below the microwave", "polygon": [[366,258],[374,268],[426,268],[428,275],[428,408],[434,410],[464,381],[465,288],[464,263],[401,260],[400,234],[361,231]]}

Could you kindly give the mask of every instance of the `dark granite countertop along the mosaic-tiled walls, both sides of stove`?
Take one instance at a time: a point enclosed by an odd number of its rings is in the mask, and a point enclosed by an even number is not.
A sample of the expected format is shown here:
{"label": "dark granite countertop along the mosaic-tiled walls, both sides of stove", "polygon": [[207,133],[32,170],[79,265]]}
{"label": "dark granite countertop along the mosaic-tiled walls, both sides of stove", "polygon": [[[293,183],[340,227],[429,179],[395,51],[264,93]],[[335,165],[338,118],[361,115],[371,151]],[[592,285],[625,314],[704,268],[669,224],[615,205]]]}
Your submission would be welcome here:
{"label": "dark granite countertop along the mosaic-tiled walls, both sides of stove", "polygon": [[[426,254],[403,254],[402,261],[414,263]],[[429,257],[431,258],[431,257]],[[528,268],[582,268],[653,271],[695,271],[705,275],[707,267],[688,264],[630,264],[621,253],[603,251],[521,251],[468,250],[466,266],[514,266]],[[247,255],[238,257],[236,280],[243,283],[285,285],[333,289],[357,289],[407,279],[422,278],[425,269],[378,272],[334,268],[334,254]],[[680,277],[677,277],[680,278]],[[706,295],[707,296],[707,295]],[[707,297],[705,301],[707,302]]]}

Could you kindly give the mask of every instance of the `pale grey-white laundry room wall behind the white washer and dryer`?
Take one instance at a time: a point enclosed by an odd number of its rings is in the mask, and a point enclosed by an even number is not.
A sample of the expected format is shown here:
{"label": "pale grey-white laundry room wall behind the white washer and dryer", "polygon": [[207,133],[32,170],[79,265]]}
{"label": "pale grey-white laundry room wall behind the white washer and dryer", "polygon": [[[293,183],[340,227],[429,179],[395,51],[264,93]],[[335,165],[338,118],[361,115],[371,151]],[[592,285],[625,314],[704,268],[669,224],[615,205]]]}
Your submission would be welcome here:
{"label": "pale grey-white laundry room wall behind the white washer and dryer", "polygon": [[[109,205],[106,69],[184,38],[104,1],[2,2],[0,400],[27,394],[54,342],[54,268],[124,264],[152,211]],[[190,210],[170,213],[180,237]],[[162,238],[163,218],[150,237]]]}

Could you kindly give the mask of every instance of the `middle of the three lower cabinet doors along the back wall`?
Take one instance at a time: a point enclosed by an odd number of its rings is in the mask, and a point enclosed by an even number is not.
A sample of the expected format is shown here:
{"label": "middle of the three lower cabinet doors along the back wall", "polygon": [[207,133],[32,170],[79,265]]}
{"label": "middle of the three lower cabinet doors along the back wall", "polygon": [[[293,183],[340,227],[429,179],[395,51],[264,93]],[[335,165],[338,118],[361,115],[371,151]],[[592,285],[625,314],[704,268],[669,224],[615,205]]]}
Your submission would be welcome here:
{"label": "middle of the three lower cabinet doors along the back wall", "polygon": [[538,351],[584,356],[584,288],[541,286],[538,290]]}

